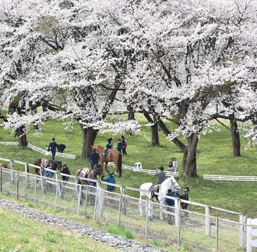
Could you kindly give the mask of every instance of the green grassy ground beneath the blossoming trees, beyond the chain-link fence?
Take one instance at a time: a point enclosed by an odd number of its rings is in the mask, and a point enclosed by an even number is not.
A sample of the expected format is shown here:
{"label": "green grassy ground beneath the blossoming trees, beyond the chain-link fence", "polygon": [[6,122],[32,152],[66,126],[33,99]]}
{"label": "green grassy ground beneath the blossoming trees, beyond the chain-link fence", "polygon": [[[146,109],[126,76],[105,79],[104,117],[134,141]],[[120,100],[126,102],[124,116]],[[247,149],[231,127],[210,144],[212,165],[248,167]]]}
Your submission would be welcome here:
{"label": "green grassy ground beneath the blossoming trees, beyond the chain-link fence", "polygon": [[[142,117],[138,118],[141,123],[145,123]],[[171,127],[171,125],[170,125]],[[28,142],[46,148],[52,137],[55,137],[58,143],[66,144],[66,153],[81,154],[82,133],[79,125],[75,122],[75,131],[73,134],[67,134],[62,122],[49,121],[42,128],[42,135],[39,138],[33,137],[33,130],[28,133]],[[143,127],[143,134],[151,138],[151,131]],[[10,131],[0,128],[0,141],[15,141]],[[98,134],[96,144],[104,146],[106,139],[113,137],[115,144],[120,135]],[[177,157],[179,162],[179,171],[181,173],[182,153],[176,146],[169,142],[163,133],[159,131],[160,147],[152,147],[151,142],[145,138],[135,136],[128,140],[128,157],[123,158],[123,164],[134,166],[135,162],[141,162],[143,168],[156,169],[159,165],[168,167],[170,157]],[[183,140],[181,138],[181,140]],[[206,134],[199,140],[197,146],[197,173],[199,178],[182,181],[181,177],[177,180],[182,186],[190,186],[190,200],[223,207],[235,211],[245,212],[247,217],[256,217],[257,214],[257,183],[256,182],[226,182],[226,181],[208,181],[203,179],[204,174],[220,175],[244,175],[256,176],[257,157],[256,150],[244,150],[246,141],[242,141],[242,157],[232,157],[230,132],[221,126],[221,132]],[[116,147],[116,146],[115,146]],[[15,146],[0,145],[0,156],[8,159],[15,159],[32,163],[35,159],[42,157],[42,154]],[[71,173],[75,174],[77,168],[88,166],[88,161],[81,158],[77,160],[63,159]],[[24,169],[22,166],[17,168]],[[111,168],[113,170],[113,168]],[[122,178],[117,178],[116,183],[139,187],[144,182],[155,182],[156,178],[142,173],[123,171]],[[131,196],[138,197],[137,193],[129,192]],[[194,209],[193,206],[190,208]]]}

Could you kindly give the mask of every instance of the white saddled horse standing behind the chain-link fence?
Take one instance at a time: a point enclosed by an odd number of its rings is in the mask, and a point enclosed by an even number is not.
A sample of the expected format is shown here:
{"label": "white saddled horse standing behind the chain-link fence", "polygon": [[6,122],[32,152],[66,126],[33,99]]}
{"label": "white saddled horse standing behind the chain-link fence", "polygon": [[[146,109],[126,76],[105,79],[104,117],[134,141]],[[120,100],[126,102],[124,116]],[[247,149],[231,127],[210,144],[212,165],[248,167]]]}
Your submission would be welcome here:
{"label": "white saddled horse standing behind the chain-link fence", "polygon": [[[152,187],[152,188],[151,188]],[[144,191],[140,191],[140,198],[139,198],[139,208],[140,208],[140,216],[143,216],[143,206],[142,206],[142,200],[145,200],[146,197],[148,197],[148,199],[150,201],[153,200],[152,197],[152,190],[154,189],[153,187],[153,183],[144,183],[140,186],[141,190],[146,190],[149,192],[144,192]],[[150,189],[150,190],[149,190]],[[171,189],[172,191],[179,191],[181,189],[181,187],[179,186],[179,184],[177,183],[177,181],[174,179],[174,177],[170,177],[166,180],[164,180],[161,184],[160,184],[160,188],[159,188],[159,193],[161,195],[158,195],[158,201],[160,202],[160,219],[162,220],[162,211],[163,211],[163,205],[165,205],[165,196],[168,193],[168,189]],[[153,208],[153,205],[150,203],[149,204],[149,217],[152,219],[152,214],[151,214],[151,210]]]}

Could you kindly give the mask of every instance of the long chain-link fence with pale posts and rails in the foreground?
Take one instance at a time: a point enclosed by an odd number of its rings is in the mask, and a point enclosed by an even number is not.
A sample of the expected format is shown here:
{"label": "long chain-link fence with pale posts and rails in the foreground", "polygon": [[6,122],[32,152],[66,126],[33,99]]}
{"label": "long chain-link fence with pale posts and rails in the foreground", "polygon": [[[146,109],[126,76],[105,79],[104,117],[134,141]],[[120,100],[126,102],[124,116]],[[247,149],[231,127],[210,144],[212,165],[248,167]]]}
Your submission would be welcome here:
{"label": "long chain-link fence with pale posts and rails in the foreground", "polygon": [[[54,176],[53,176],[54,177]],[[123,224],[138,239],[159,241],[164,247],[186,245],[200,251],[243,251],[246,225],[151,200],[139,200],[97,187],[1,168],[0,191],[35,204],[83,214],[102,223]],[[243,218],[243,217],[242,217]]]}

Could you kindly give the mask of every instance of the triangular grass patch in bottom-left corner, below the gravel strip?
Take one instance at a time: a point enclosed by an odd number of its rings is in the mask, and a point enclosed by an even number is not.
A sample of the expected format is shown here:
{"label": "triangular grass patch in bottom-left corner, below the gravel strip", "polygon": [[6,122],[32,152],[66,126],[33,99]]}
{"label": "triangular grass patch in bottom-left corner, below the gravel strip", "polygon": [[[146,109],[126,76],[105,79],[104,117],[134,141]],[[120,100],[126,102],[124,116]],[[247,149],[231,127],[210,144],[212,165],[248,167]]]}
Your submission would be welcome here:
{"label": "triangular grass patch in bottom-left corner, below the gravel strip", "polygon": [[50,227],[0,208],[0,250],[119,251],[88,237]]}

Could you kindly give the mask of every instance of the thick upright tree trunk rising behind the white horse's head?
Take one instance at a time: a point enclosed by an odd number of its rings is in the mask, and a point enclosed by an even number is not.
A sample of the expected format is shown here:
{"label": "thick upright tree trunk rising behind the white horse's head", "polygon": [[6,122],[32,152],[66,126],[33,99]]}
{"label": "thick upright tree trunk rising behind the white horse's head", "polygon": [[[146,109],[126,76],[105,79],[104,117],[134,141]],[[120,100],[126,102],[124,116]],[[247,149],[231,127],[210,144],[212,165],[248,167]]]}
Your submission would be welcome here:
{"label": "thick upright tree trunk rising behind the white horse's head", "polygon": [[197,134],[193,133],[189,138],[187,138],[188,146],[184,150],[183,154],[183,178],[197,177],[196,173],[196,146],[198,143]]}

